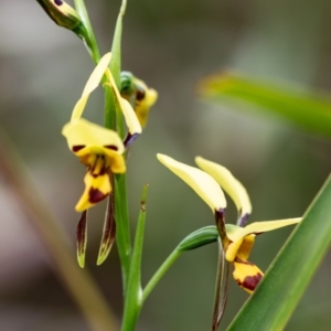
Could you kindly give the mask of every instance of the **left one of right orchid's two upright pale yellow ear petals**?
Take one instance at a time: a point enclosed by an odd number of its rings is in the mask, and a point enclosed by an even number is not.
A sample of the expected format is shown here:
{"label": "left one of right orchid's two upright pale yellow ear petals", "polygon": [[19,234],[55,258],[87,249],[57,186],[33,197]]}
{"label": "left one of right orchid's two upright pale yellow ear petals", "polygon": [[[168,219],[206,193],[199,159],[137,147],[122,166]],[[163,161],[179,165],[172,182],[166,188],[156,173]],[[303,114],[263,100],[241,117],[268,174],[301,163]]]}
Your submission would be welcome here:
{"label": "left one of right orchid's two upright pale yellow ear petals", "polygon": [[200,169],[178,162],[164,154],[157,154],[159,161],[190,185],[213,212],[226,207],[224,193],[215,180]]}

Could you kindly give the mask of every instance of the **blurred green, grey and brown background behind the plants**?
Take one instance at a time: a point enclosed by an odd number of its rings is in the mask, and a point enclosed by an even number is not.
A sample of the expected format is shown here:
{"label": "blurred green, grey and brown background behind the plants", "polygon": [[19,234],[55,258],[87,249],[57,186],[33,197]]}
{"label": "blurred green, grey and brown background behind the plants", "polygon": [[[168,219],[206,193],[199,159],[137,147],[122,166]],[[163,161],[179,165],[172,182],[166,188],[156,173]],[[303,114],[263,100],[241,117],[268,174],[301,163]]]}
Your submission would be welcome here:
{"label": "blurred green, grey and brown background behind the plants", "polygon": [[[110,49],[120,1],[86,0],[86,6],[105,53]],[[186,234],[213,224],[209,207],[158,163],[157,152],[190,164],[201,154],[228,167],[250,193],[252,220],[303,214],[330,172],[330,141],[277,118],[242,111],[245,106],[203,102],[196,96],[196,84],[209,74],[232,68],[279,84],[292,82],[330,92],[330,13],[329,0],[129,1],[122,67],[159,92],[128,164],[132,228],[142,184],[150,185],[145,284]],[[73,256],[74,204],[83,190],[84,169],[68,151],[61,129],[93,67],[82,42],[55,25],[36,1],[1,0],[1,130],[65,228]],[[102,122],[102,90],[92,96],[86,117]],[[8,156],[11,153],[8,147]],[[40,233],[3,174],[0,197],[0,329],[88,330]],[[95,266],[104,211],[102,204],[89,214],[87,268],[120,320],[116,248],[103,266]],[[227,222],[235,217],[229,203]],[[290,232],[285,228],[258,237],[250,259],[265,270]],[[183,255],[146,302],[137,330],[209,330],[216,250],[216,245],[210,245]],[[329,254],[287,330],[329,330],[330,261]],[[292,277],[300,275],[293,270]],[[231,279],[221,329],[246,299]]]}

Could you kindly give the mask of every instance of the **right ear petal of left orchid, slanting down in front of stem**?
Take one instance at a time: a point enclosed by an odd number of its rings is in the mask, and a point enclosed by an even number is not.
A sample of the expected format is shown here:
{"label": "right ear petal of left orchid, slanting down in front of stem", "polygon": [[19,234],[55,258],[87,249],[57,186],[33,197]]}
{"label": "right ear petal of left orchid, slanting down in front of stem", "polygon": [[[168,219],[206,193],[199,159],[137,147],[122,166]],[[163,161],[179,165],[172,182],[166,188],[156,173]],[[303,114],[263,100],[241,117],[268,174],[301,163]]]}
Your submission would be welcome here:
{"label": "right ear petal of left orchid, slanting down in front of stem", "polygon": [[114,95],[119,104],[119,107],[122,111],[122,116],[125,117],[128,130],[130,132],[131,136],[137,135],[137,134],[141,134],[141,126],[140,122],[138,120],[138,117],[132,108],[132,106],[130,105],[130,103],[128,100],[126,100],[124,97],[121,97],[120,93],[117,89],[116,83],[114,81],[114,77],[110,73],[110,71],[106,72],[107,77],[110,82],[110,86],[113,88]]}

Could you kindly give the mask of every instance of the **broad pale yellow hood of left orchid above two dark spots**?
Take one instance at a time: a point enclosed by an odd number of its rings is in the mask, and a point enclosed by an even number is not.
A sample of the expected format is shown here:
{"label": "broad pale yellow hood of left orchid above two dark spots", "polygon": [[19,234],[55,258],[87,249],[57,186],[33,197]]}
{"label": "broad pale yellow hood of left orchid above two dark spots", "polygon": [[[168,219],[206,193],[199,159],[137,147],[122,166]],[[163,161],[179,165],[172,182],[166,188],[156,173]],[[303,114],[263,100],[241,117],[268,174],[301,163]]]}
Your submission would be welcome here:
{"label": "broad pale yellow hood of left orchid above two dark spots", "polygon": [[122,153],[125,150],[117,132],[83,118],[66,124],[62,129],[62,135],[67,139],[71,150],[75,146],[108,146],[118,153]]}

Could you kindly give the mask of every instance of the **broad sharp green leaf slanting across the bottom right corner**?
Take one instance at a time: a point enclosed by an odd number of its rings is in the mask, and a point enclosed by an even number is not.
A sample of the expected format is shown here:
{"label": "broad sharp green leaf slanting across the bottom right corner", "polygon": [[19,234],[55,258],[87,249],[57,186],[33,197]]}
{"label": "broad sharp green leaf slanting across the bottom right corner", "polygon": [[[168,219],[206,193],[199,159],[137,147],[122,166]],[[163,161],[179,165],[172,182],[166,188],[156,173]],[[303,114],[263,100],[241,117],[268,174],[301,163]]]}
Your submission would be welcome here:
{"label": "broad sharp green leaf slanting across the bottom right corner", "polygon": [[231,330],[282,330],[331,243],[331,177],[284,245]]}

